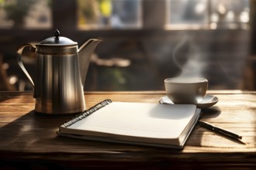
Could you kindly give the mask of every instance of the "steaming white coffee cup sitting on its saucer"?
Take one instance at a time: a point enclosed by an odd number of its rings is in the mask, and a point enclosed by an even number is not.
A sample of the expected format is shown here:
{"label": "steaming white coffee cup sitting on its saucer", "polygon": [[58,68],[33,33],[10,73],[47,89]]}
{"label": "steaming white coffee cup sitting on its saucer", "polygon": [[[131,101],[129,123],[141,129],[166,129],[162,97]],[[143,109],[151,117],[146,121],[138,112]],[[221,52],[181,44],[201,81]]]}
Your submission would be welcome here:
{"label": "steaming white coffee cup sitting on its saucer", "polygon": [[202,77],[173,77],[164,80],[169,99],[175,104],[197,104],[206,96],[208,80]]}

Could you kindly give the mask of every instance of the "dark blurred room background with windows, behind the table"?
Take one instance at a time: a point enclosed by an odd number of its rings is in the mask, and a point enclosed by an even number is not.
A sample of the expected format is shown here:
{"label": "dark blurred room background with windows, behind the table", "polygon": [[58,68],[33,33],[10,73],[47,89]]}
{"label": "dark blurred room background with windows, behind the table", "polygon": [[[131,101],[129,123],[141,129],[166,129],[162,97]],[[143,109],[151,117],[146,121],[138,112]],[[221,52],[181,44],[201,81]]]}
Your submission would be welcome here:
{"label": "dark blurred room background with windows, behind the table", "polygon": [[[0,0],[0,90],[33,90],[16,62],[22,43],[55,29],[103,39],[85,90],[164,90],[171,76],[204,76],[210,90],[255,90],[256,0]],[[35,56],[22,58],[33,75]]]}

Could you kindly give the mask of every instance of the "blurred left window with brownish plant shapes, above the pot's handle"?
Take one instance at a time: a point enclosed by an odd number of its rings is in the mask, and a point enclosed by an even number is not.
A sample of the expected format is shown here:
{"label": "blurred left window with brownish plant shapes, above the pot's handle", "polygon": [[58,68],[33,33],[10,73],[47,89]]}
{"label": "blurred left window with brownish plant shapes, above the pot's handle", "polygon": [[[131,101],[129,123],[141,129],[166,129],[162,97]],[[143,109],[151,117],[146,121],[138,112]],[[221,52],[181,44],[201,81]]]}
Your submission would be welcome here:
{"label": "blurred left window with brownish plant shapes, above the pot's handle", "polygon": [[0,0],[0,28],[50,29],[50,0]]}

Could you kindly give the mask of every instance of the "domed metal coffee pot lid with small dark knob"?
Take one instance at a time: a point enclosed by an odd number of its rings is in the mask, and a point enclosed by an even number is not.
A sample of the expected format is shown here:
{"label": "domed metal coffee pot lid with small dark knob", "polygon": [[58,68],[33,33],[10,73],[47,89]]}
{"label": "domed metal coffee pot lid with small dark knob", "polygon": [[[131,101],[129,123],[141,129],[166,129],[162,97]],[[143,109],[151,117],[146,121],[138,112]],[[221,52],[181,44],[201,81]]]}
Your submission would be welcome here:
{"label": "domed metal coffee pot lid with small dark knob", "polygon": [[37,46],[74,46],[78,45],[78,42],[74,42],[71,39],[68,39],[64,36],[60,36],[61,32],[55,30],[54,36],[48,39],[44,39]]}

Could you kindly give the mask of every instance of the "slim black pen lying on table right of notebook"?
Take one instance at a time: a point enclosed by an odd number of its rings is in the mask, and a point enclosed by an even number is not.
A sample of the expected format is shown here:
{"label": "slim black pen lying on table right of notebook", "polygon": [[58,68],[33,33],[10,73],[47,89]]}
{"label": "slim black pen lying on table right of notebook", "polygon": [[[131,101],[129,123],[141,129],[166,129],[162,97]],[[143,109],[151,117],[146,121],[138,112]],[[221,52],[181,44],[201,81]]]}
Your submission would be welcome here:
{"label": "slim black pen lying on table right of notebook", "polygon": [[205,121],[199,121],[199,125],[201,125],[203,128],[207,128],[212,131],[216,131],[220,134],[224,134],[230,138],[234,139],[241,139],[242,137],[239,134],[235,134],[234,132],[224,130],[223,128],[216,127],[213,124],[206,123]]}

